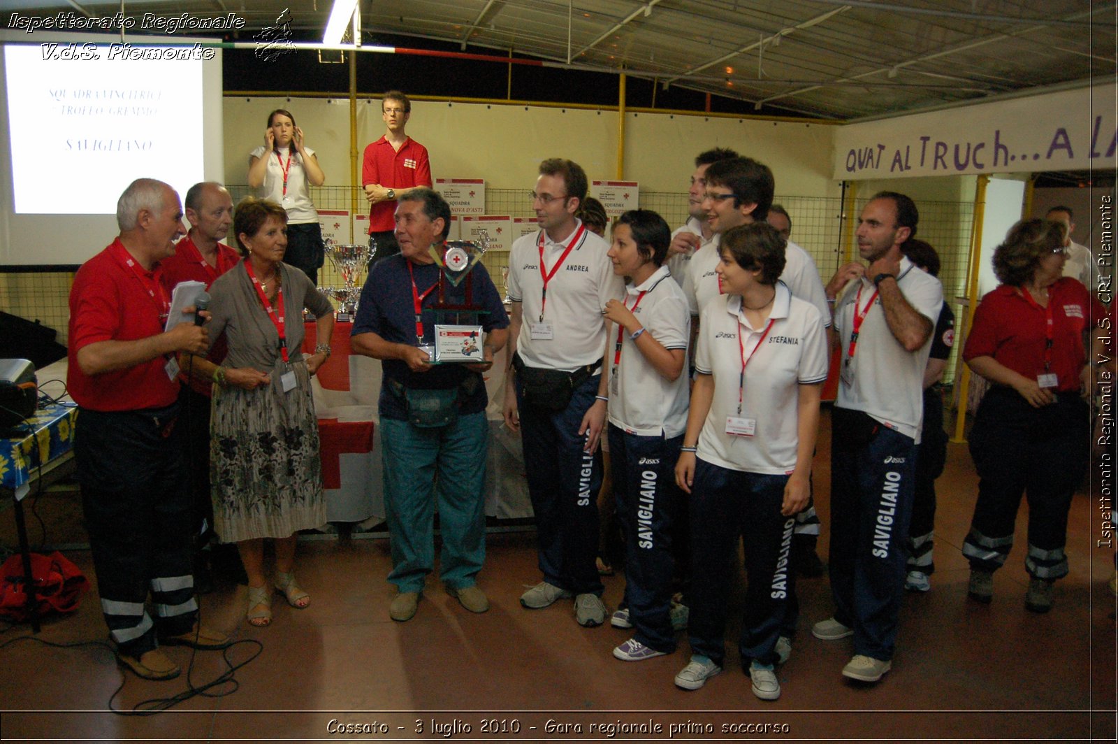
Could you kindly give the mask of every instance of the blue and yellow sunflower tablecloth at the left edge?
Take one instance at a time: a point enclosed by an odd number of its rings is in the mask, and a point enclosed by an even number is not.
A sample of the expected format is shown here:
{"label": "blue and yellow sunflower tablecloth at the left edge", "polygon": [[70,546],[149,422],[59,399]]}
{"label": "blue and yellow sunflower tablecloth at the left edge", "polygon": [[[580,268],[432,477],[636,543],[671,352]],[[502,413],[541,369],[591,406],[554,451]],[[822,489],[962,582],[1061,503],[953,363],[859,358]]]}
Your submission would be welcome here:
{"label": "blue and yellow sunflower tablecloth at the left edge", "polygon": [[48,403],[0,439],[0,489],[22,498],[36,469],[74,449],[77,407]]}

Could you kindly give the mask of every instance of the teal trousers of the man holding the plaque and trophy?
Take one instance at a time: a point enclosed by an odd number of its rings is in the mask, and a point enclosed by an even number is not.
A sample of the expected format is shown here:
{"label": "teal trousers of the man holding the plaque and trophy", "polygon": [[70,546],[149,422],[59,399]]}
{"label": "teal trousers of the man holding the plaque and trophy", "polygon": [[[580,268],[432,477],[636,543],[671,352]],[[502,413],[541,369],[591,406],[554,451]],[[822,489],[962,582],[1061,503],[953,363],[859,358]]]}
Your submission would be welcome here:
{"label": "teal trousers of the man holding the plaque and trophy", "polygon": [[420,428],[380,420],[385,510],[391,534],[392,572],[401,592],[419,592],[435,565],[435,500],[443,549],[439,577],[447,586],[473,586],[485,561],[485,414],[458,416],[448,426]]}

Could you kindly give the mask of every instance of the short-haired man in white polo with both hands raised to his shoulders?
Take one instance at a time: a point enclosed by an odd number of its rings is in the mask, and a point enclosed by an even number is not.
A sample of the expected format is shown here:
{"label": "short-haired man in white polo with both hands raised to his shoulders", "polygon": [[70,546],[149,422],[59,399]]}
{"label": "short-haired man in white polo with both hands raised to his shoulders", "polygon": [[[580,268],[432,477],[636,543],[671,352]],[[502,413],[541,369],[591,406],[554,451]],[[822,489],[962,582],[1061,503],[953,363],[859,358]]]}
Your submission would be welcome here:
{"label": "short-haired man in white polo with both hands raised to his shoulders", "polygon": [[923,414],[923,369],[939,280],[901,252],[919,214],[903,194],[881,191],[859,217],[858,249],[827,284],[842,345],[831,436],[831,592],[833,618],[815,623],[823,640],[854,637],[843,676],[875,682],[892,667],[904,582],[904,543]]}

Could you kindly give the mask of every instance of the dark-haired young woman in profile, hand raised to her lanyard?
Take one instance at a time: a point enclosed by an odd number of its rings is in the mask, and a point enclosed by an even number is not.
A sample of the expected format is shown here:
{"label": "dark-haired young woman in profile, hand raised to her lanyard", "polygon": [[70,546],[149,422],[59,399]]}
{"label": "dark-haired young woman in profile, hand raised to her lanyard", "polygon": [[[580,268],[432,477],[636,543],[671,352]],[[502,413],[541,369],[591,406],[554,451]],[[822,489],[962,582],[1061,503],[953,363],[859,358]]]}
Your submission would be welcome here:
{"label": "dark-haired young woman in profile, hand raised to her lanyard", "polygon": [[[625,602],[633,638],[614,649],[623,661],[675,650],[670,619],[673,478],[688,418],[683,374],[691,313],[680,285],[662,265],[671,243],[654,211],[626,211],[613,229],[614,273],[628,277],[622,301],[605,308],[614,340],[609,369],[609,455],[617,520],[625,534]],[[624,612],[624,611],[622,611]]]}

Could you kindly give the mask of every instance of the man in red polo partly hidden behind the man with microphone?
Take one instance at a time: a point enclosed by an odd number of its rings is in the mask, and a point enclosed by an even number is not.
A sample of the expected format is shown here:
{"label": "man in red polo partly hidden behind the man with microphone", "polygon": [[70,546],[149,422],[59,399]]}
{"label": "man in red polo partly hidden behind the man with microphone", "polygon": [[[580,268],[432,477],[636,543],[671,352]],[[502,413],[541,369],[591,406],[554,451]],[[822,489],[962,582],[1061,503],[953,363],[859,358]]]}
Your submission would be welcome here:
{"label": "man in red polo partly hidden behind the man with microphone", "polygon": [[[190,232],[174,246],[174,255],[160,262],[163,288],[170,295],[181,282],[201,282],[208,290],[214,280],[240,263],[240,255],[220,241],[233,224],[233,197],[216,181],[195,183],[187,190],[187,219]],[[225,337],[214,341],[206,357],[183,355],[180,358],[183,386],[179,394],[187,434],[187,459],[193,492],[195,587],[203,594],[212,586],[202,550],[214,537],[214,503],[209,482],[210,389],[214,371],[225,359]],[[234,546],[222,550],[222,563],[236,580],[244,575]],[[215,556],[216,561],[217,556]],[[247,581],[247,580],[246,580]]]}

